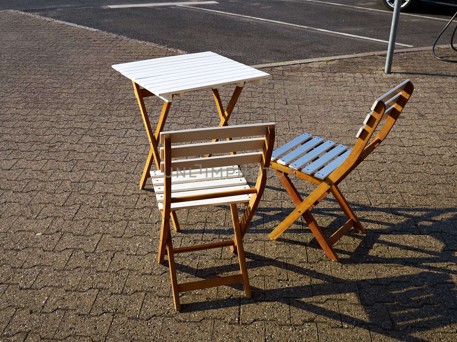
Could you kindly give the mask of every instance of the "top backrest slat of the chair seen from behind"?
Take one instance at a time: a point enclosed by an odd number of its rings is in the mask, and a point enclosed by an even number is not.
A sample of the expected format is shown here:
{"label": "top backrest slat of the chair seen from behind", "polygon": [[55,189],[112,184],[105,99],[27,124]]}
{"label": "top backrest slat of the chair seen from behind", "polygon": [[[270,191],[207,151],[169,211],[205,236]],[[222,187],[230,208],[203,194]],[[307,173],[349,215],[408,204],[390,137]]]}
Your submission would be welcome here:
{"label": "top backrest slat of the chair seen from behind", "polygon": [[223,126],[212,128],[201,128],[195,130],[176,130],[173,132],[161,132],[160,143],[164,143],[164,135],[170,135],[171,143],[182,143],[189,141],[202,141],[213,139],[241,138],[247,136],[265,135],[268,126],[274,125],[273,122],[267,124],[244,124],[237,126]]}

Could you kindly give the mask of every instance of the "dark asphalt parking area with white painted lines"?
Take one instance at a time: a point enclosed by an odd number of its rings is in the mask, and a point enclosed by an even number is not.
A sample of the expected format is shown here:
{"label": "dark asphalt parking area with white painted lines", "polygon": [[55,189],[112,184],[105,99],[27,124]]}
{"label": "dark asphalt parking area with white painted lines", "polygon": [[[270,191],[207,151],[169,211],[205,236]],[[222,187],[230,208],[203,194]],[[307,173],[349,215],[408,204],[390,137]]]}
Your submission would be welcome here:
{"label": "dark asphalt parking area with white painted lines", "polygon": [[[213,51],[249,65],[385,51],[392,21],[380,0],[165,5],[178,1],[197,0],[3,0],[0,10],[23,10],[187,52]],[[431,46],[456,10],[424,5],[402,13],[396,48]],[[449,44],[452,30],[439,44]]]}

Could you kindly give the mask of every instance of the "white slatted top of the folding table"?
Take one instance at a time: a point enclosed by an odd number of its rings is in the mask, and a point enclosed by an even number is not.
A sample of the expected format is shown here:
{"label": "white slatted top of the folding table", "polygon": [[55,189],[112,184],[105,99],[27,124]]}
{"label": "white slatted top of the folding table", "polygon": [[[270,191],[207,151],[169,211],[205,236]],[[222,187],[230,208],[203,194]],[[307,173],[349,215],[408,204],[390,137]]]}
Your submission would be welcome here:
{"label": "white slatted top of the folding table", "polygon": [[263,78],[270,76],[211,51],[115,64],[112,67],[167,102],[171,102],[173,94],[182,97],[193,90],[228,84],[241,86],[247,81],[260,85]]}

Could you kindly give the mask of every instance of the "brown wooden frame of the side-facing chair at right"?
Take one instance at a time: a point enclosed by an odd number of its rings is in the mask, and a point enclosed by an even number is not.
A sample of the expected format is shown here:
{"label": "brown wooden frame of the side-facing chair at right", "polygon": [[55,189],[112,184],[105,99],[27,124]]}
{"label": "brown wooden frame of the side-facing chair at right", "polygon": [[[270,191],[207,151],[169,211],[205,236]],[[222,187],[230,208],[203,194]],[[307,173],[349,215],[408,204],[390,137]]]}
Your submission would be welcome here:
{"label": "brown wooden frame of the side-facing chair at right", "polygon": [[[402,83],[403,84],[403,83]],[[399,86],[400,87],[400,86]],[[398,87],[397,87],[398,88]],[[394,91],[394,88],[392,91]],[[395,103],[386,110],[386,104],[383,102],[383,97],[379,98],[372,106],[372,113],[367,115],[364,126],[361,127],[357,133],[356,143],[343,163],[338,166],[335,171],[329,174],[324,180],[315,176],[308,175],[304,172],[294,170],[287,166],[281,165],[277,162],[271,162],[271,168],[275,169],[276,174],[279,176],[280,181],[287,193],[294,202],[296,208],[285,218],[271,233],[269,238],[278,238],[292,223],[294,223],[300,216],[302,216],[314,237],[319,242],[329,259],[339,261],[339,257],[332,247],[349,229],[354,228],[360,233],[365,233],[365,229],[360,223],[356,214],[353,212],[345,197],[338,188],[338,184],[345,179],[345,177],[354,170],[388,135],[392,129],[393,124],[399,118],[401,111],[405,104],[408,102],[409,97],[413,93],[414,86],[409,80],[405,81],[404,89],[399,93],[395,99]],[[386,101],[389,103],[390,101]],[[389,103],[390,104],[390,103]],[[377,135],[370,141],[373,132],[376,130],[377,125],[385,119],[385,122]],[[289,175],[296,176],[306,181],[310,181],[318,187],[311,192],[304,200],[298,193],[297,189],[292,184]],[[329,193],[335,197],[336,202],[340,205],[348,221],[340,227],[335,233],[327,238],[319,227],[318,223],[311,214],[311,210],[319,204]]]}

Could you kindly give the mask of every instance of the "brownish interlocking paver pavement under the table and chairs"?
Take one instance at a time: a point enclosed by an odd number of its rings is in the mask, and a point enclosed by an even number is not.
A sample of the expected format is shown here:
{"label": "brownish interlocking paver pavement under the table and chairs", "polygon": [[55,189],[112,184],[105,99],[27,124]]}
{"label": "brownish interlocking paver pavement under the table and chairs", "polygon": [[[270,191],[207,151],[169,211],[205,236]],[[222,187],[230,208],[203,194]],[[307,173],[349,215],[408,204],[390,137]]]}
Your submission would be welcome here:
{"label": "brownish interlocking paver pavement under the table and chairs", "polygon": [[[455,64],[409,52],[391,75],[383,56],[265,69],[272,79],[244,89],[230,124],[276,121],[276,145],[305,131],[352,144],[374,98],[412,79],[391,135],[341,184],[367,233],[340,240],[340,263],[304,223],[268,239],[292,210],[271,176],[245,236],[253,298],[198,290],[176,313],[154,193],[138,189],[143,122],[111,68],[175,52],[11,11],[0,32],[0,340],[457,340]],[[148,100],[153,121],[160,106]],[[207,91],[171,108],[165,129],[218,124]],[[179,212],[192,229],[176,244],[228,238],[226,209]],[[337,209],[332,197],[315,209],[327,233],[345,221]],[[186,279],[238,267],[227,250],[176,259]]]}

